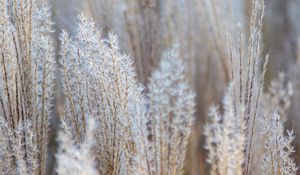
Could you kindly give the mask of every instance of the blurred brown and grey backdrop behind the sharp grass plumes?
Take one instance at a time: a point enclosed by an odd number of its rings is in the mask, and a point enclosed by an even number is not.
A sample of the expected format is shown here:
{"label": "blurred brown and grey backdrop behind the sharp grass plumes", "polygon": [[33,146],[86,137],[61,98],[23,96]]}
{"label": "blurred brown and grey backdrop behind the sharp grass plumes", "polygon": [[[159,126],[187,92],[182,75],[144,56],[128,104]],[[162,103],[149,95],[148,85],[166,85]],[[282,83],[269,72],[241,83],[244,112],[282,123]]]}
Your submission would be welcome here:
{"label": "blurred brown and grey backdrop behind the sharp grass plumes", "polygon": [[[122,50],[134,60],[140,83],[147,84],[164,50],[180,45],[181,59],[189,70],[187,78],[197,93],[196,124],[190,138],[186,174],[207,174],[203,125],[208,107],[220,103],[230,80],[227,36],[239,37],[240,30],[247,37],[252,0],[49,0],[48,3],[56,48],[62,30],[70,35],[76,33],[77,15],[83,12],[95,20],[103,36],[108,32],[118,35]],[[270,54],[266,86],[279,72],[284,72],[293,83],[287,124],[288,128],[294,128],[296,147],[300,148],[300,0],[266,0],[265,5],[262,46],[263,53]],[[58,104],[63,103],[60,94],[58,91]],[[55,116],[57,111],[51,124],[51,153],[56,150]],[[295,156],[299,162],[300,154]],[[53,157],[50,159],[55,161]]]}

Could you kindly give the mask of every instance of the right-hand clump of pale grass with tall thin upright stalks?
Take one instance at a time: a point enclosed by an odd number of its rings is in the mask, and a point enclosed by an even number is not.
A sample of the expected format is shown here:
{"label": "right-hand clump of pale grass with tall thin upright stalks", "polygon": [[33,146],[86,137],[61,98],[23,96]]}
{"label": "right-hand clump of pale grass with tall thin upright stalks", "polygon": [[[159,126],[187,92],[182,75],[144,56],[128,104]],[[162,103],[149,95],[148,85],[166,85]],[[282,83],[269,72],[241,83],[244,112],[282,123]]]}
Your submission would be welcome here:
{"label": "right-hand clump of pale grass with tall thin upright stalks", "polygon": [[[229,37],[228,54],[234,84],[230,85],[226,92],[222,110],[211,108],[212,122],[205,127],[207,162],[210,164],[211,174],[252,174],[261,167],[254,168],[255,161],[252,159],[257,156],[253,154],[258,154],[257,151],[262,146],[265,148],[262,152],[264,166],[261,168],[263,172],[258,173],[295,174],[296,165],[291,157],[293,134],[288,132],[286,136],[279,114],[273,115],[274,112],[284,114],[287,110],[290,104],[291,85],[285,83],[284,77],[280,75],[278,82],[271,83],[269,92],[263,92],[268,63],[267,55],[264,65],[261,65],[260,42],[264,1],[256,0],[252,5],[250,34],[246,48],[241,32],[237,50]],[[236,67],[239,74],[236,74]],[[257,127],[261,126],[257,119],[264,121],[263,134],[257,131]],[[262,140],[259,142],[265,143],[265,146],[255,142],[263,138],[266,142]],[[273,147],[274,145],[277,146]]]}

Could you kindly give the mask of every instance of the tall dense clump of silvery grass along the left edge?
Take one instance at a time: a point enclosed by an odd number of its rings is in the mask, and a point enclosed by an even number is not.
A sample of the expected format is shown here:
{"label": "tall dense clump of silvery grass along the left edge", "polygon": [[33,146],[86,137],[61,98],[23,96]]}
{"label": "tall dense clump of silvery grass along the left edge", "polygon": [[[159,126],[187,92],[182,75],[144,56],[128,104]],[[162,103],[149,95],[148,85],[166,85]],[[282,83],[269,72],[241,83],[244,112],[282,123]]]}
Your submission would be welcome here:
{"label": "tall dense clump of silvery grass along the left edge", "polygon": [[[15,13],[17,12],[17,13]],[[51,20],[31,1],[0,1],[0,171],[45,174],[53,86]]]}

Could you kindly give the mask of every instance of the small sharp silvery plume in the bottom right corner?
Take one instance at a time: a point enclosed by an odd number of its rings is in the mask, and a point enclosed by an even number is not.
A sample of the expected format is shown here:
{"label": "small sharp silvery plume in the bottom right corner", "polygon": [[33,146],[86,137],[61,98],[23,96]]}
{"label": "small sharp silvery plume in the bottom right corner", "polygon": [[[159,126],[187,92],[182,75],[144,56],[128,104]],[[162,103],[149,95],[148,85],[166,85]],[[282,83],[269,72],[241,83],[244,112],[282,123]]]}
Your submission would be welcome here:
{"label": "small sharp silvery plume in the bottom right corner", "polygon": [[293,130],[284,133],[283,121],[278,112],[262,118],[266,139],[263,174],[295,175],[297,167],[292,158],[295,152]]}

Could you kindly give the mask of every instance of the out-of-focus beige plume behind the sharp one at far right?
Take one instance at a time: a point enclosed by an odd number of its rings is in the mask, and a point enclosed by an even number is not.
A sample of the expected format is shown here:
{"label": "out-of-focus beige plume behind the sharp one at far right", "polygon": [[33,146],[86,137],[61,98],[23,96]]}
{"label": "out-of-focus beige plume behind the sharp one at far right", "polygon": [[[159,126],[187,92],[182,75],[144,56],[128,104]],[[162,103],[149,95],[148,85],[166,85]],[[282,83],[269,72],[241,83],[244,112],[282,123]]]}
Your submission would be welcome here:
{"label": "out-of-focus beige plume behind the sharp one at far right", "polygon": [[[278,113],[281,117],[280,121],[286,120],[287,111],[290,106],[290,98],[292,96],[292,84],[288,78],[280,73],[279,76],[273,79],[268,87],[268,90],[262,94],[259,109],[259,121],[256,123],[257,132],[254,137],[253,145],[253,165],[256,168],[253,173],[259,173],[264,170],[263,161],[265,151],[266,128],[265,124],[271,125],[271,120],[265,121],[267,118],[273,118],[274,113]],[[261,122],[263,120],[264,122]],[[269,162],[270,163],[270,162]]]}

